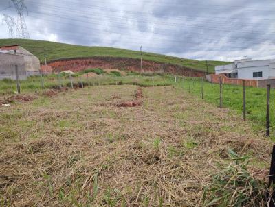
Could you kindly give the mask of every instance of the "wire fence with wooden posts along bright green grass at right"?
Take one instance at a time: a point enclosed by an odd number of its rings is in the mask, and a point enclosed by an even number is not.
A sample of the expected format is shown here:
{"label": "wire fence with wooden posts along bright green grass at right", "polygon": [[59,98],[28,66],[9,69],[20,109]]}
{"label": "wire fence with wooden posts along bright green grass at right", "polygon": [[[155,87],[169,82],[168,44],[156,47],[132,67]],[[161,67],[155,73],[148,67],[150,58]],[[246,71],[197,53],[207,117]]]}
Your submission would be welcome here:
{"label": "wire fence with wooden posts along bright green grass at right", "polygon": [[203,80],[203,77],[175,77],[175,85],[183,88],[192,95],[201,97],[206,102],[223,108],[232,108],[243,115],[250,125],[266,128],[266,135],[270,136],[270,125],[275,125],[275,93],[270,88],[254,88],[230,85],[219,82],[214,84]]}

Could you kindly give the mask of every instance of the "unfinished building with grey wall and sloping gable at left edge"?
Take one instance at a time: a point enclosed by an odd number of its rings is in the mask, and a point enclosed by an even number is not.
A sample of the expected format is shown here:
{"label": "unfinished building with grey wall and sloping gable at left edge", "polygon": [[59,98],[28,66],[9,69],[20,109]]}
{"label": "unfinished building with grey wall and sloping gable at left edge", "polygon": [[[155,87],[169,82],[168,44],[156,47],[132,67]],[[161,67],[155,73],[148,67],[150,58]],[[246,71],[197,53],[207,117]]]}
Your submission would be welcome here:
{"label": "unfinished building with grey wall and sloping gable at left edge", "polygon": [[39,75],[40,61],[32,53],[19,45],[0,47],[0,79],[16,79],[15,66],[20,71],[19,79],[26,79],[30,75]]}

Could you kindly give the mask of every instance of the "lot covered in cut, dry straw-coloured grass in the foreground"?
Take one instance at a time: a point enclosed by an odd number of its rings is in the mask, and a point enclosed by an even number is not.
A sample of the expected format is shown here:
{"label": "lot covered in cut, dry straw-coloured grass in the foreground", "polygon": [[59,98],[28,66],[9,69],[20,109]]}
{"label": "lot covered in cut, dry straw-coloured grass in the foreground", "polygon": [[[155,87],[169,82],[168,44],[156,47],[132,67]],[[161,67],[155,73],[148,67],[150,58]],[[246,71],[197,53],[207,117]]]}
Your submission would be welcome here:
{"label": "lot covered in cut, dry straw-coloured grass in the foreground", "polygon": [[[1,206],[201,206],[228,148],[265,171],[272,145],[184,91],[96,86],[0,108]],[[235,124],[232,124],[235,123]]]}

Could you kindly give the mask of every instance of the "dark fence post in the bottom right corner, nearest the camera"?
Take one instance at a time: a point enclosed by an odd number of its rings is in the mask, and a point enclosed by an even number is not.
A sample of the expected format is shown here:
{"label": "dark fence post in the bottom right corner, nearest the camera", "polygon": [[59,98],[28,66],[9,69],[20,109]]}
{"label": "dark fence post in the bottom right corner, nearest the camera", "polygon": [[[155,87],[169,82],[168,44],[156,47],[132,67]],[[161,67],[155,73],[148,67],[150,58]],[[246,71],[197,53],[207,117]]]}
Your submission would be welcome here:
{"label": "dark fence post in the bottom right corner, nearest the camera", "polygon": [[[267,204],[270,207],[275,207],[275,191],[274,191],[274,184],[275,184],[275,145],[273,145],[272,149],[272,158],[270,164],[270,176],[269,176],[268,186],[271,192],[267,192]],[[270,195],[270,193],[272,193]]]}

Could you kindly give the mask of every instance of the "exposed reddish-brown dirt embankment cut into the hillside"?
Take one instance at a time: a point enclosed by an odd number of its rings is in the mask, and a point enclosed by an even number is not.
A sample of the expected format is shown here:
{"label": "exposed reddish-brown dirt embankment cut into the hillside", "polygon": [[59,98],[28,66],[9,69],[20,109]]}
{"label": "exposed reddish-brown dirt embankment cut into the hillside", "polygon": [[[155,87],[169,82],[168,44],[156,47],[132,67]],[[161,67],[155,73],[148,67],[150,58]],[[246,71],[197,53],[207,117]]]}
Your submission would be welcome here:
{"label": "exposed reddish-brown dirt embankment cut into the hillside", "polygon": [[[88,68],[103,69],[124,69],[126,71],[140,71],[140,60],[135,58],[115,58],[115,57],[94,57],[94,58],[73,58],[56,60],[49,63],[54,71],[74,72],[82,71]],[[144,60],[143,69],[145,72],[172,73],[192,77],[202,77],[206,75],[203,71],[197,71],[185,66],[175,64],[164,64]]]}

